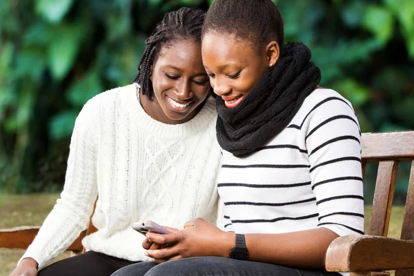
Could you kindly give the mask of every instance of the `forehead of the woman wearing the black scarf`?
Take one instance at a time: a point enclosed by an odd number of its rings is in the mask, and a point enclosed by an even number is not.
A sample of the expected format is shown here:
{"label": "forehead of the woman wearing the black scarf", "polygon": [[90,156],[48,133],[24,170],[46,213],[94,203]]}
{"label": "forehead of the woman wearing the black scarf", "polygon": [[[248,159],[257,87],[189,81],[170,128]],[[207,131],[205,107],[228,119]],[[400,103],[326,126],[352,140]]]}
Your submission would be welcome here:
{"label": "forehead of the woman wearing the black scarf", "polygon": [[207,33],[201,43],[204,64],[215,63],[250,63],[257,59],[252,43],[234,34]]}

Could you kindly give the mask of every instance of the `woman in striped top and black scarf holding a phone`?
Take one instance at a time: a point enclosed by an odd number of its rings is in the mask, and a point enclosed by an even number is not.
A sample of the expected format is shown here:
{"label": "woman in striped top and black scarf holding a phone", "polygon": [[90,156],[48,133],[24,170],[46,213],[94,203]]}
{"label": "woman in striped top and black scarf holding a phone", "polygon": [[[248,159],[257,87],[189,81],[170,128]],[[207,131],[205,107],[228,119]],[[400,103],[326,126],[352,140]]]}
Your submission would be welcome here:
{"label": "woman in striped top and black scarf holding a phone", "polygon": [[[197,218],[176,233],[148,233],[143,246],[158,265],[145,275],[334,275],[324,270],[328,245],[364,233],[351,103],[318,86],[311,50],[284,44],[271,0],[215,0],[201,53],[218,96],[227,223],[221,230]],[[140,267],[114,276],[140,275]]]}

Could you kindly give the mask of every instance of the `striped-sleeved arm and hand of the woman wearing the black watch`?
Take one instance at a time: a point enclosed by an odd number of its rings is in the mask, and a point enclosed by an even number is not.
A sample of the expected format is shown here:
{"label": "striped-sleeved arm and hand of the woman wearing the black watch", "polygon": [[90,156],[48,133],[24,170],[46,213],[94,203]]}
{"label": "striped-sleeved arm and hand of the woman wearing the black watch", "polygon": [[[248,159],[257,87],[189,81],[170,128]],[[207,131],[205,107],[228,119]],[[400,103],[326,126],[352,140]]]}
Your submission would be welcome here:
{"label": "striped-sleeved arm and hand of the woman wearing the black watch", "polygon": [[[294,233],[246,234],[249,260],[324,268],[326,250],[333,239],[363,231],[360,134],[352,108],[344,101],[326,101],[306,118],[303,132],[319,224]],[[235,234],[223,233],[201,219],[179,233],[148,237],[156,243],[175,244],[148,251],[149,257],[159,262],[179,257],[229,257],[235,245]]]}

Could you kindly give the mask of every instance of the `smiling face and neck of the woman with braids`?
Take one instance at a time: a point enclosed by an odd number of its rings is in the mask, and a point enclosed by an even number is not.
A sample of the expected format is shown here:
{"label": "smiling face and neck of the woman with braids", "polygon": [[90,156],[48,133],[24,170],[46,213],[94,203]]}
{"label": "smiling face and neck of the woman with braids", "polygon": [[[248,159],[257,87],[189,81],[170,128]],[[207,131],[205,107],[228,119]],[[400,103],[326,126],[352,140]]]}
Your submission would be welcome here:
{"label": "smiling face and neck of the woman with braids", "polygon": [[200,43],[182,40],[162,47],[152,66],[152,88],[154,99],[140,101],[153,119],[181,124],[197,115],[210,89]]}

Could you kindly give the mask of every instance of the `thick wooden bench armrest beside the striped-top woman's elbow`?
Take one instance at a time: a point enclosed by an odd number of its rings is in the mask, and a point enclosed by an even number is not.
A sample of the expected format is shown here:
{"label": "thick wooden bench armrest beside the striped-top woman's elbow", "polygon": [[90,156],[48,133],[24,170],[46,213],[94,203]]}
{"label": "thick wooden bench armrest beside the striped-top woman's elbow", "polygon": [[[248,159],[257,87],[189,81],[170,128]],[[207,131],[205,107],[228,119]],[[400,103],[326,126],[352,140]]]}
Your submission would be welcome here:
{"label": "thick wooden bench armrest beside the striped-top woman's elbow", "polygon": [[414,241],[368,235],[334,239],[326,252],[326,270],[342,272],[414,268]]}

